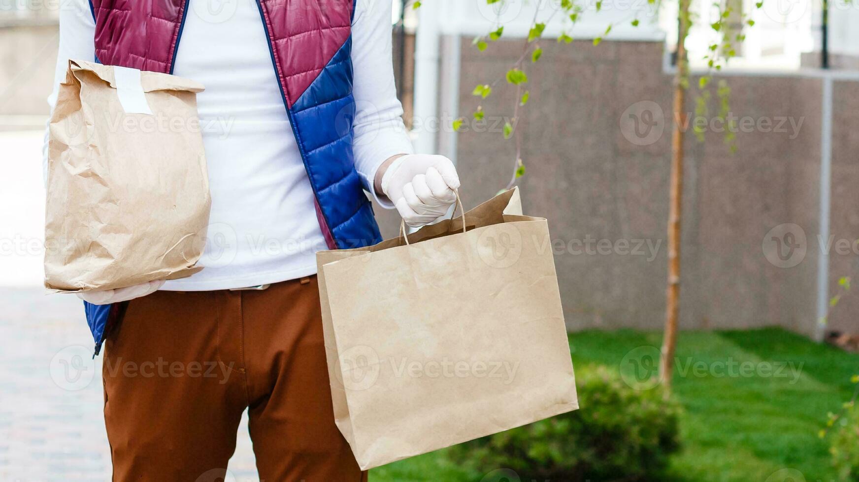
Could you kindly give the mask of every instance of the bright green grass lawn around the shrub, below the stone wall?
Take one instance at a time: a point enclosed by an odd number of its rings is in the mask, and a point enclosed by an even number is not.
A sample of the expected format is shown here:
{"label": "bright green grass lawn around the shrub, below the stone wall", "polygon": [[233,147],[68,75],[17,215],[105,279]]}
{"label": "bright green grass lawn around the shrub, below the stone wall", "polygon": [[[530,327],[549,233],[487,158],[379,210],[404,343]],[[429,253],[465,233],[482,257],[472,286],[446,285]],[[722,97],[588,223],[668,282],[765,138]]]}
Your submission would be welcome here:
{"label": "bright green grass lawn around the shrub, below the stone wall", "polygon": [[[618,367],[638,346],[660,345],[661,334],[655,332],[570,335],[576,367]],[[744,362],[756,370],[772,367],[773,373],[741,372]],[[728,366],[734,367],[730,373]],[[779,366],[784,370],[777,372]],[[673,457],[672,479],[783,482],[783,477],[767,478],[787,468],[801,472],[809,482],[835,479],[828,439],[821,440],[818,432],[826,413],[837,411],[849,398],[850,376],[856,372],[859,356],[779,328],[681,333],[673,385],[685,409],[683,450]],[[370,481],[465,482],[483,475],[446,461],[440,450],[376,468]]]}

